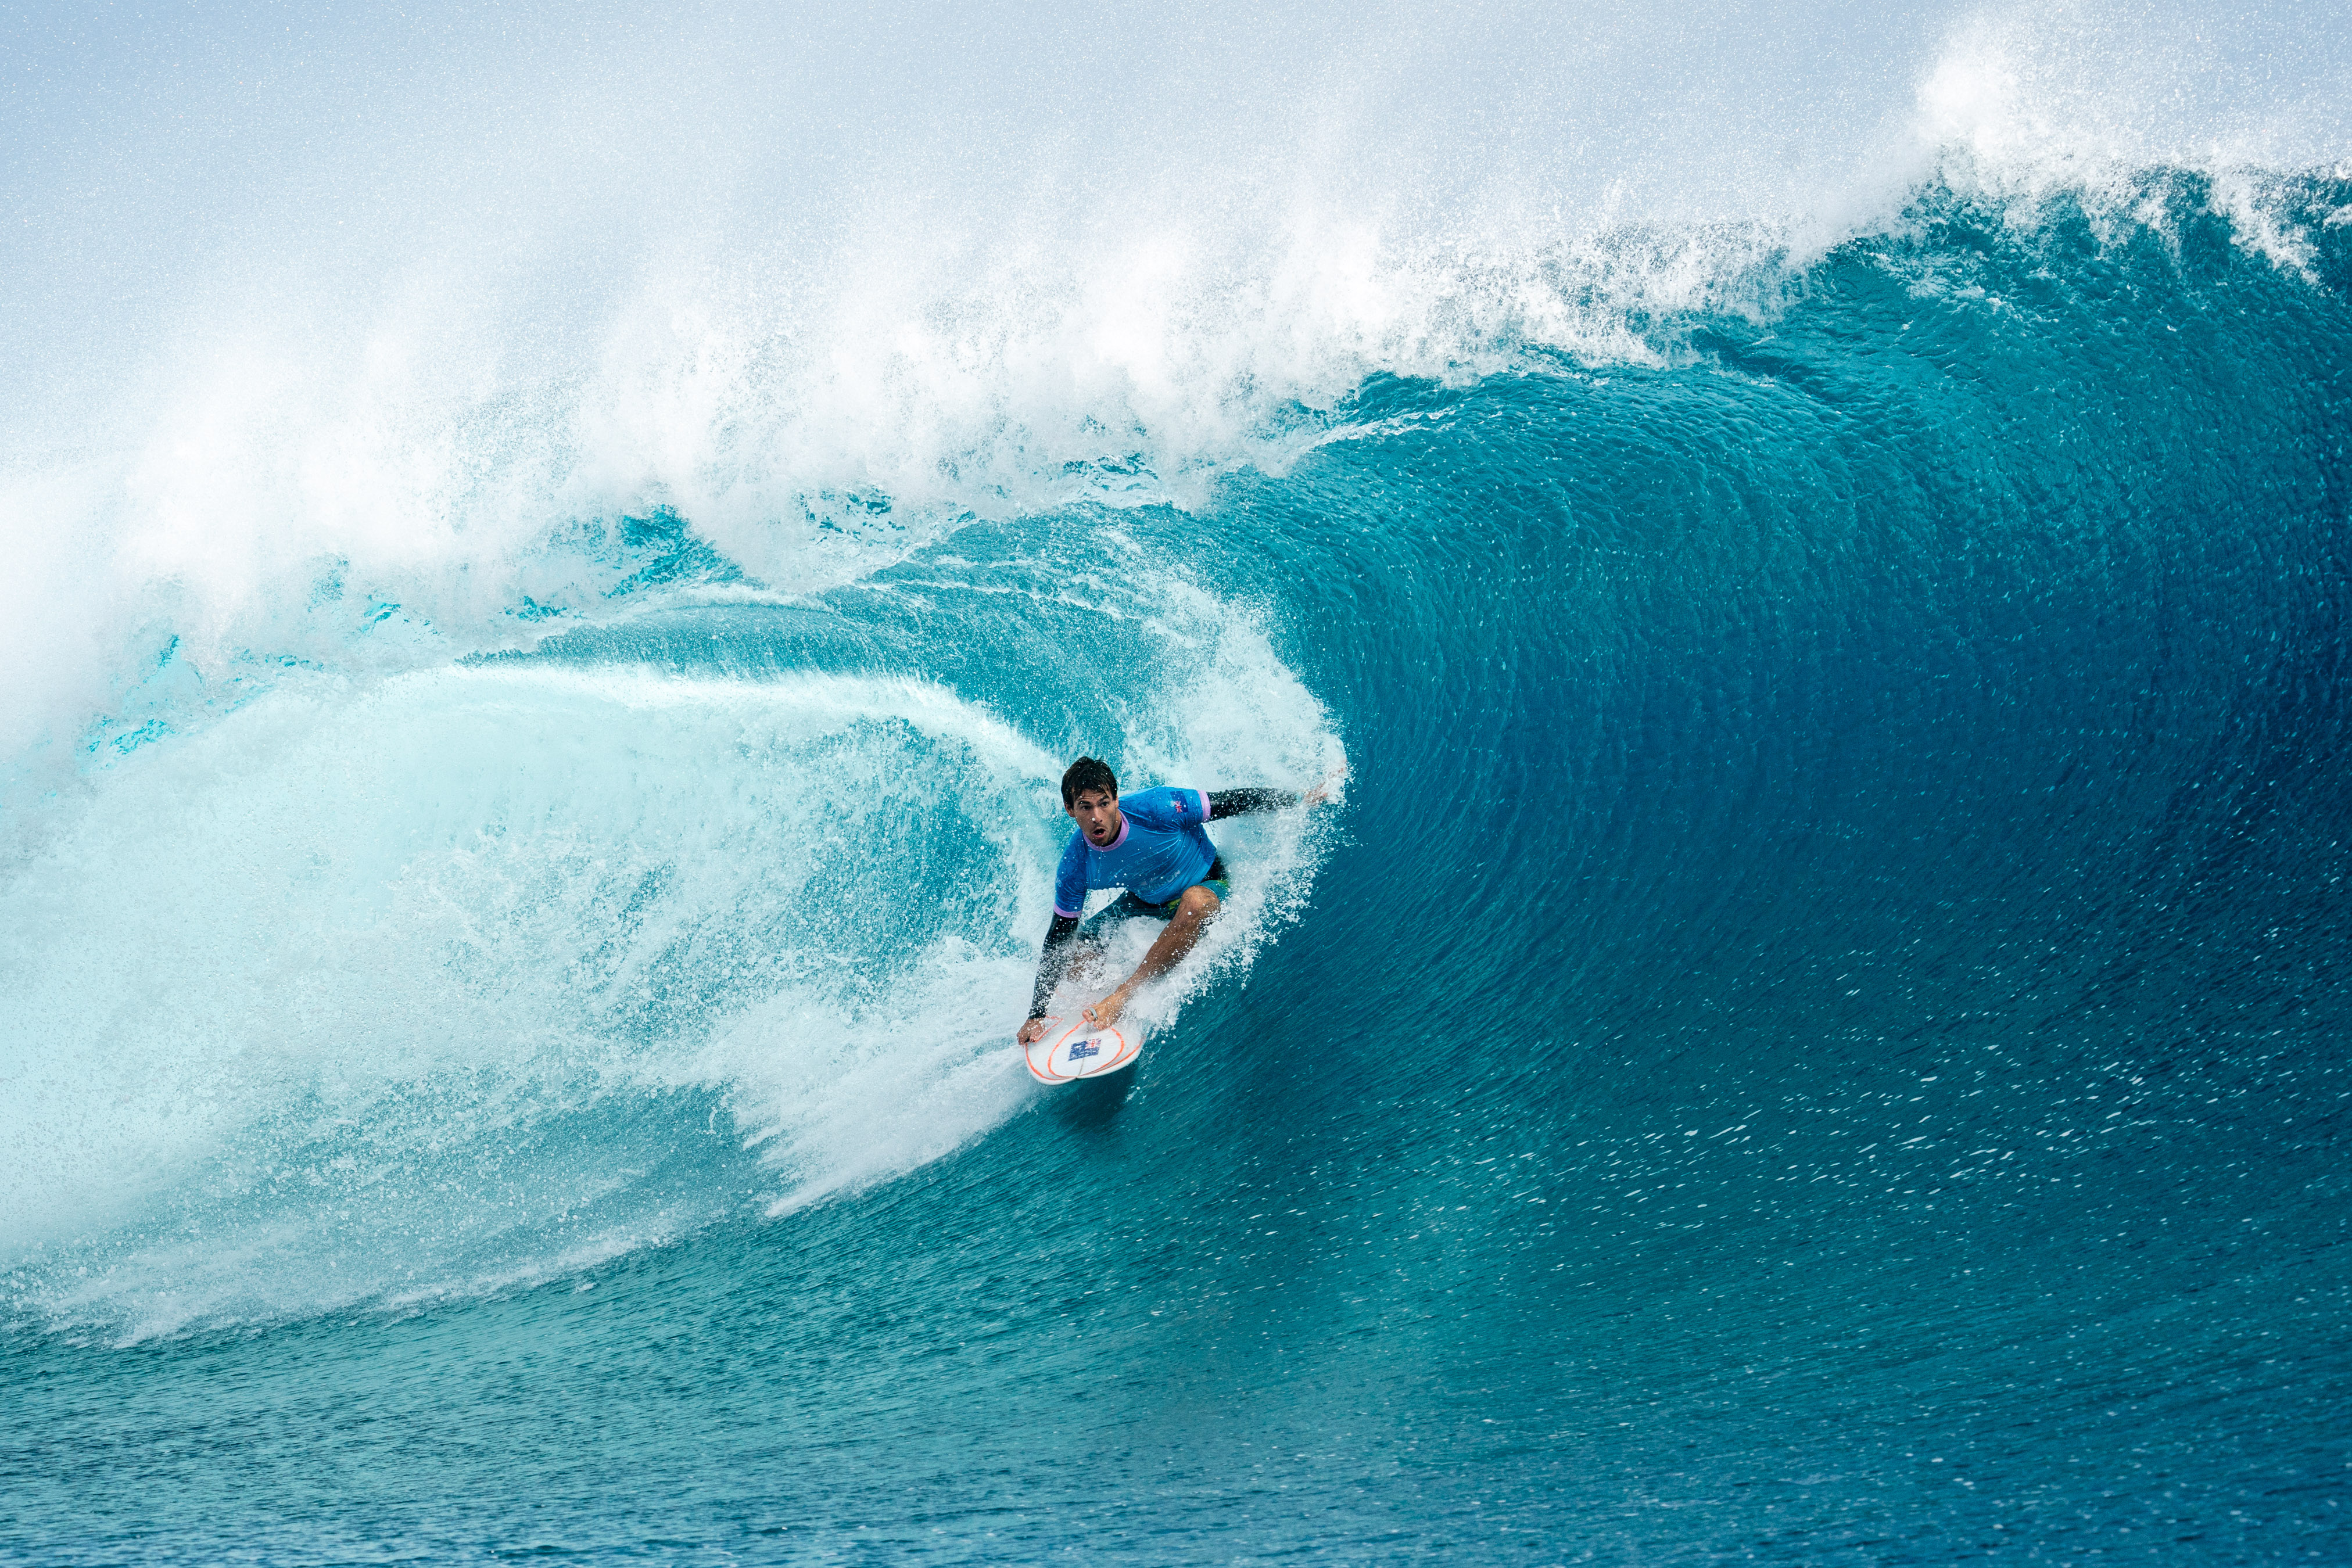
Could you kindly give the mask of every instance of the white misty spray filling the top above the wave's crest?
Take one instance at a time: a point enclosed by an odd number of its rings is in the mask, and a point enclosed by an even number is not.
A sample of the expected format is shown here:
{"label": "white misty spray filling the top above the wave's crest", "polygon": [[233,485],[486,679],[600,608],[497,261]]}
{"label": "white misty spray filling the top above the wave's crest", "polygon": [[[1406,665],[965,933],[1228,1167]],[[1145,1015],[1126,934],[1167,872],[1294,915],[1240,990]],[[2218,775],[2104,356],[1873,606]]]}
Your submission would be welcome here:
{"label": "white misty spray filling the top above the wave's crest", "polygon": [[[779,590],[1073,487],[1197,503],[1376,371],[1642,360],[1630,313],[1736,306],[1936,167],[2206,169],[2298,263],[2260,172],[2347,150],[2328,19],[1308,5],[1040,52],[983,5],[887,47],[779,12],[449,16],[454,52],[355,21],[221,78],[42,56],[7,110],[52,174],[7,240],[0,762],[49,752],[9,799],[172,637],[214,684],[397,665],[355,635],[376,604],[430,628],[419,663],[513,646],[522,595],[614,581],[572,520],[661,503]],[[268,68],[367,80],[367,118],[252,94]]]}

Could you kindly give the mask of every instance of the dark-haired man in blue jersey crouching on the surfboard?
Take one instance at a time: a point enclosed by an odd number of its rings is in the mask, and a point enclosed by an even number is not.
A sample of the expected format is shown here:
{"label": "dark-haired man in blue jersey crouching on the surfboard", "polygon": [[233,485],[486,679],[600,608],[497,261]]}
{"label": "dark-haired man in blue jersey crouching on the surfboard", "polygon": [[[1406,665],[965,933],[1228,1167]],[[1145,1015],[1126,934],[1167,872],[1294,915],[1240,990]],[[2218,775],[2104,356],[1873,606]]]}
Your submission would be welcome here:
{"label": "dark-haired man in blue jersey crouching on the surfboard", "polygon": [[[1225,903],[1225,860],[1216,844],[1202,832],[1207,823],[1251,811],[1282,811],[1284,806],[1315,806],[1331,797],[1331,783],[1308,790],[1303,797],[1291,790],[1141,790],[1120,799],[1120,780],[1108,764],[1080,757],[1061,776],[1061,809],[1077,823],[1077,832],[1061,851],[1061,870],[1054,875],[1054,924],[1044,933],[1044,954],[1037,959],[1037,994],[1030,999],[1028,1023],[1021,1025],[1021,1044],[1044,1037],[1044,1004],[1054,985],[1080,957],[1101,954],[1101,938],[1110,926],[1129,919],[1162,919],[1167,931],[1152,940],[1150,952],[1136,964],[1117,990],[1087,1009],[1087,1023],[1108,1027],[1120,1020],[1120,1011],[1145,980],[1167,973],[1176,959],[1192,952],[1192,943]],[[1122,889],[1117,903],[1098,912],[1084,926],[1077,924],[1087,907],[1087,889]]]}

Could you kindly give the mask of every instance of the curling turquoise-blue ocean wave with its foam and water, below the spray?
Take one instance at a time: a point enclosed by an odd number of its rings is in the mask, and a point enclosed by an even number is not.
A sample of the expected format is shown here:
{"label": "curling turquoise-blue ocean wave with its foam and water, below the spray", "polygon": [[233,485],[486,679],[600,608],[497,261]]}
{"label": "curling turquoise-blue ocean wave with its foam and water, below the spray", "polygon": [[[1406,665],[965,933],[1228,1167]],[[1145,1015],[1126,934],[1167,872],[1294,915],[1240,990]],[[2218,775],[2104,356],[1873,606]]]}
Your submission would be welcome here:
{"label": "curling turquoise-blue ocean wave with its foam and water, below the spray", "polygon": [[[209,1131],[24,1206],[0,1556],[2352,1559],[2352,186],[2303,266],[2150,188],[800,599],[637,520],[701,599],[139,748],[252,891],[78,992]],[[1082,748],[1352,778],[1042,1093]],[[45,1027],[26,922],[115,905],[40,879],[169,860],[101,827],[12,872]],[[24,1147],[139,1168],[28,1032]]]}

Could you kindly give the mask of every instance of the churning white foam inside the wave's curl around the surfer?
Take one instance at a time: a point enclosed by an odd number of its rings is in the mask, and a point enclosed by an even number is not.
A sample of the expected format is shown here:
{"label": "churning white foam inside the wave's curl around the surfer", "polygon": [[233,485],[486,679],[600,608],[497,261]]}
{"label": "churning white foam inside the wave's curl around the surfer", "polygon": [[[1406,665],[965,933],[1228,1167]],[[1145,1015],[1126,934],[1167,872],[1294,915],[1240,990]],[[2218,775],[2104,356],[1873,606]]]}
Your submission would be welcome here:
{"label": "churning white foam inside the wave's curl around the surfer", "polygon": [[[1247,616],[1138,597],[1185,682],[1127,693],[1129,769],[1336,757]],[[136,1338],[430,1300],[969,1143],[1030,1093],[1058,771],[943,686],[823,670],[294,675],[136,750],[0,884],[19,1307]],[[1214,952],[1310,872],[1270,837]]]}

